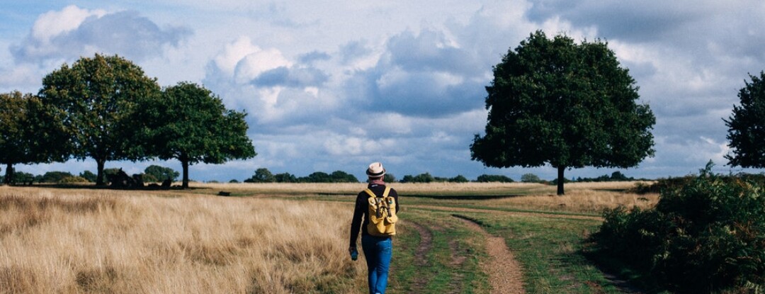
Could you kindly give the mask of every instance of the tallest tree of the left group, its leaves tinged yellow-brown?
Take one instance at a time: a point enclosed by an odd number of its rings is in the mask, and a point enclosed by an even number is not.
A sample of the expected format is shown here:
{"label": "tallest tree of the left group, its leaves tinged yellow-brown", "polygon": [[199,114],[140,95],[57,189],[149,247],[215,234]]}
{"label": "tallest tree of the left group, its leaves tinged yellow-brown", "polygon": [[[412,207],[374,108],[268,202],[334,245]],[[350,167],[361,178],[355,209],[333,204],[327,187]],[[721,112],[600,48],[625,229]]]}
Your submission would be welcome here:
{"label": "tallest tree of the left group, its leaves tinged yellow-brown", "polygon": [[72,138],[72,155],[93,158],[98,165],[96,185],[103,185],[103,168],[111,160],[136,160],[145,155],[135,148],[135,122],[129,120],[139,99],[160,93],[155,78],[119,56],[82,57],[63,64],[43,79],[39,96],[63,113]]}

